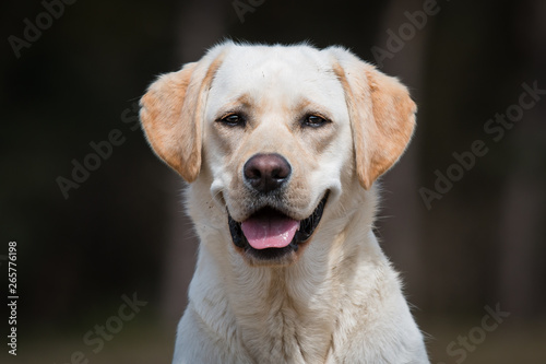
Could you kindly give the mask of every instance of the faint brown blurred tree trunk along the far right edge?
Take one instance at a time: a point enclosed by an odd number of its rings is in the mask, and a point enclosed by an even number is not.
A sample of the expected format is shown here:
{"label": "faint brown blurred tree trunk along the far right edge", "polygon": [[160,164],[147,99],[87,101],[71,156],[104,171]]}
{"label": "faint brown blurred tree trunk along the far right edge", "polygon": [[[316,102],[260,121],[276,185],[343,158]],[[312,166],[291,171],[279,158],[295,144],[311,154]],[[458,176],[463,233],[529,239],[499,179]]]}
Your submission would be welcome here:
{"label": "faint brown blurred tree trunk along the far right edge", "polygon": [[[523,46],[525,70],[524,80],[529,85],[537,82],[538,89],[546,90],[546,2],[529,1],[515,13],[515,23]],[[531,37],[529,36],[531,35]],[[499,224],[500,302],[508,310],[521,316],[532,316],[544,310],[544,227],[546,214],[546,97],[530,110],[513,128],[512,151],[518,165],[510,165],[501,206]]]}

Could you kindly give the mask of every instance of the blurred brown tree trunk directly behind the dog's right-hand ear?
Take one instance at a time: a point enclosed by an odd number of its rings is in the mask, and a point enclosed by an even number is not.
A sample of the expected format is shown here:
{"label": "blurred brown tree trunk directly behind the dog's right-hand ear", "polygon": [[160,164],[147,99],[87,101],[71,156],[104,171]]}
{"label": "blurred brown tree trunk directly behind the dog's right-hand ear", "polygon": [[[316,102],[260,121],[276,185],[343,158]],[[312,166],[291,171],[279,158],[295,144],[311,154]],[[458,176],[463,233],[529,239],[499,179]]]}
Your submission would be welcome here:
{"label": "blurred brown tree trunk directly behind the dog's right-hand ear", "polygon": [[[401,24],[408,23],[404,12],[423,11],[423,1],[394,0],[383,15],[377,46],[387,48],[388,34],[391,30],[399,34]],[[423,87],[423,64],[427,50],[427,34],[434,27],[432,19],[427,19],[423,30],[416,30],[415,36],[405,40],[404,47],[390,59],[384,60],[381,71],[396,75],[408,86],[412,98],[419,105]],[[422,236],[423,206],[416,191],[419,189],[419,117],[414,138],[400,162],[382,178],[382,202],[378,227],[382,247],[402,273],[405,291],[412,304],[424,303],[424,269]]]}

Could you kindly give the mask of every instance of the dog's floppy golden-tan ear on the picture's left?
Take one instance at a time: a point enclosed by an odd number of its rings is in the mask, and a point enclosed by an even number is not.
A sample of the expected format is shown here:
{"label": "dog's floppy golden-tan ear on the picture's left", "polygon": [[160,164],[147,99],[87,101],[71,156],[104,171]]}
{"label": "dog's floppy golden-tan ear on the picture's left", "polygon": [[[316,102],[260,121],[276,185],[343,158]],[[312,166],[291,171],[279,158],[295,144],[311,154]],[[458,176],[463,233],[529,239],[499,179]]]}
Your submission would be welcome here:
{"label": "dog's floppy golden-tan ear on the picture's left", "polygon": [[204,105],[221,57],[161,75],[140,101],[140,118],[155,153],[192,183],[201,171]]}

